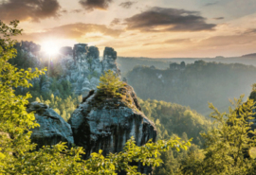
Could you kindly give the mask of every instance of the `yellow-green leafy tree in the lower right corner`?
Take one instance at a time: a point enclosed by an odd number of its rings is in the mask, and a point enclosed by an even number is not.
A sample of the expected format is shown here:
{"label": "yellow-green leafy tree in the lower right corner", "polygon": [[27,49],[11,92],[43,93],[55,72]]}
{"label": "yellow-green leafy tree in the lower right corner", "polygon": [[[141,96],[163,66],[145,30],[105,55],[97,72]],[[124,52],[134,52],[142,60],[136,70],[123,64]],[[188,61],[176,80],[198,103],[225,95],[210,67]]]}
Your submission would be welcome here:
{"label": "yellow-green leafy tree in the lower right corner", "polygon": [[202,134],[205,158],[202,162],[191,159],[192,162],[184,164],[185,174],[255,174],[255,161],[248,155],[248,150],[256,146],[256,131],[251,130],[254,102],[243,103],[241,96],[232,104],[235,108],[229,107],[229,114],[220,114],[210,104],[216,128]]}

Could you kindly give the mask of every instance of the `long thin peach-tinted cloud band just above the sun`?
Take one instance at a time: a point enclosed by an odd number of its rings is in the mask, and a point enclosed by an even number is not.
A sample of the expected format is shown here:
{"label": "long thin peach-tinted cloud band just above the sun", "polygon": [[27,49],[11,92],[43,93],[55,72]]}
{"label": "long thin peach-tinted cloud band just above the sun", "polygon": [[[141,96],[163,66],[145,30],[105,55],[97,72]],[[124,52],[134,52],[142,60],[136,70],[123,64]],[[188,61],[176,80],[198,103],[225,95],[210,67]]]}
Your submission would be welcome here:
{"label": "long thin peach-tinted cloud band just above the sun", "polygon": [[119,37],[121,32],[122,30],[111,29],[104,25],[76,23],[46,28],[43,32],[25,33],[21,36],[21,39],[29,41],[42,41],[48,38],[79,40],[89,33],[101,33],[103,36],[111,36],[115,38]]}

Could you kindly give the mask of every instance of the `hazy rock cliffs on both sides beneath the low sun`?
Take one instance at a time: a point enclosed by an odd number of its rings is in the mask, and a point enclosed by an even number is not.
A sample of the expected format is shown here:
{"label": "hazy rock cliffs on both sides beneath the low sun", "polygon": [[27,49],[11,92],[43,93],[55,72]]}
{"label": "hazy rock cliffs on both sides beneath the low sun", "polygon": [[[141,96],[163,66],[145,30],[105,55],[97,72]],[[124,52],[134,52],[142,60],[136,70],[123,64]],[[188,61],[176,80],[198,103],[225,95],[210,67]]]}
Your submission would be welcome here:
{"label": "hazy rock cliffs on both sides beneath the low sun", "polygon": [[[48,55],[39,53],[41,46],[32,42],[22,42],[15,44],[18,51],[26,52],[27,55],[37,61],[37,67],[46,67]],[[59,50],[58,56],[52,56],[54,63],[50,64],[50,71],[61,72],[59,82],[68,80],[71,82],[73,92],[76,95],[86,96],[87,93],[99,85],[99,79],[104,71],[111,69],[120,77],[117,65],[117,52],[111,47],[105,47],[103,59],[100,59],[100,51],[96,46],[87,44],[75,44],[74,47],[64,46]],[[45,58],[40,60],[40,58]],[[41,62],[42,61],[42,62]],[[40,79],[34,79],[31,83]],[[46,79],[41,79],[41,90],[49,92],[52,79],[46,75]],[[52,92],[58,95],[58,92]]]}

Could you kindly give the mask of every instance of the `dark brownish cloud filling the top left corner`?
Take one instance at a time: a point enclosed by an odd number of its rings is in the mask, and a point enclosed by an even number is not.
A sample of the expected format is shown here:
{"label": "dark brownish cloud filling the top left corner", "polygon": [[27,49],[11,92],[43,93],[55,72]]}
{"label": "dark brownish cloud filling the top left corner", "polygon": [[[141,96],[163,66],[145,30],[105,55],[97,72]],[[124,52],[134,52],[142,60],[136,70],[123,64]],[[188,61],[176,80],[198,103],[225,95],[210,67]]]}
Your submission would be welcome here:
{"label": "dark brownish cloud filling the top left corner", "polygon": [[60,15],[58,0],[9,0],[0,4],[0,19],[40,22]]}

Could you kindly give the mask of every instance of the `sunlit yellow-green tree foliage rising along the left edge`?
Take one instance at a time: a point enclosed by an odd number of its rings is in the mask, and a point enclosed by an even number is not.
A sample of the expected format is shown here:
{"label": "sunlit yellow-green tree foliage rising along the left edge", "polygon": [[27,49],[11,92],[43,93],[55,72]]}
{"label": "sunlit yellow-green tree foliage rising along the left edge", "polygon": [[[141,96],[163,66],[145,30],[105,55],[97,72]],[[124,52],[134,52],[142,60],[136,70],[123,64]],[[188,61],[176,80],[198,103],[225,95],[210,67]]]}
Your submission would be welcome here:
{"label": "sunlit yellow-green tree foliage rising along the left edge", "polygon": [[26,111],[30,95],[15,96],[13,87],[30,87],[28,80],[43,75],[44,70],[32,72],[31,69],[18,69],[9,63],[9,59],[16,54],[13,48],[15,41],[11,37],[21,33],[17,26],[18,21],[10,22],[9,26],[0,21],[0,173],[12,169],[16,159],[34,148],[34,144],[30,144],[29,130],[38,126],[34,122],[34,115]]}

